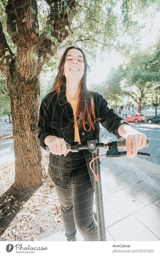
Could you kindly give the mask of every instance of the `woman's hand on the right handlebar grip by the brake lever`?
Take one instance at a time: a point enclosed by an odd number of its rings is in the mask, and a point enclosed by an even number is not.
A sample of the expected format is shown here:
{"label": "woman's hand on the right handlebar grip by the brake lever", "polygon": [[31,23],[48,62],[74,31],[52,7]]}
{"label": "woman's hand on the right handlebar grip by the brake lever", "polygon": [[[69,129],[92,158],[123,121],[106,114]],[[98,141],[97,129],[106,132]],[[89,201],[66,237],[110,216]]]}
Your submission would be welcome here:
{"label": "woman's hand on the right handlebar grip by the brake lever", "polygon": [[126,148],[124,149],[127,151],[127,157],[133,158],[137,155],[137,150],[144,147],[146,144],[146,134],[140,133],[139,131],[132,130],[121,137],[119,140],[126,140]]}

